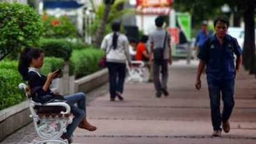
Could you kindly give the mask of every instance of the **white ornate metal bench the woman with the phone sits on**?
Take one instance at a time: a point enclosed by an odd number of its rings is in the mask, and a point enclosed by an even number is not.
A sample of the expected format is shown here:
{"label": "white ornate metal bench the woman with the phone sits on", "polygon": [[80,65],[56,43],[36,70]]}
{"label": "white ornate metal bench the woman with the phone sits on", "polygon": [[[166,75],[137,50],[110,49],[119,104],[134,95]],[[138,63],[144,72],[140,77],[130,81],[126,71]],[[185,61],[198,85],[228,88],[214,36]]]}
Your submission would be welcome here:
{"label": "white ornate metal bench the woman with the phone sits on", "polygon": [[29,98],[30,117],[33,118],[35,131],[40,137],[39,140],[33,140],[33,143],[67,144],[67,139],[63,140],[61,136],[66,132],[67,125],[72,123],[70,106],[65,102],[50,102],[41,105],[32,100],[26,84],[20,83],[19,89],[24,89],[26,97]]}

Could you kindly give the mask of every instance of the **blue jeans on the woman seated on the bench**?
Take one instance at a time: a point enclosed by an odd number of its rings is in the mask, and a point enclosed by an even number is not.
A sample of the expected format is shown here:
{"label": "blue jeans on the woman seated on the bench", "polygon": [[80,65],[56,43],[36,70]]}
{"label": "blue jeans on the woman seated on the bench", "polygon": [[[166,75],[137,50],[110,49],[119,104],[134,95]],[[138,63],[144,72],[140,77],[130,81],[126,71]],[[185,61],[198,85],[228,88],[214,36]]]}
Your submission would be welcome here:
{"label": "blue jeans on the woman seated on the bench", "polygon": [[70,105],[71,113],[74,115],[72,123],[67,125],[67,132],[65,134],[67,138],[71,138],[74,130],[86,116],[86,95],[84,93],[74,93],[65,96],[65,100],[67,100],[66,103],[67,105]]}

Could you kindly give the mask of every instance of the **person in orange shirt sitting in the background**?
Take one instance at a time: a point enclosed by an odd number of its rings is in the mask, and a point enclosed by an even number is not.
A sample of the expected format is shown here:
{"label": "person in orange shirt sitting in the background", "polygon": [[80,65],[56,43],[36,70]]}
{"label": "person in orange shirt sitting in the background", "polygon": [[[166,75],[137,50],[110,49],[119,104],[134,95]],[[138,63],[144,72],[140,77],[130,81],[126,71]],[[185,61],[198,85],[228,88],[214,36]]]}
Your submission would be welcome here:
{"label": "person in orange shirt sitting in the background", "polygon": [[150,62],[150,54],[147,52],[147,40],[148,40],[147,35],[143,35],[141,37],[141,40],[138,43],[136,48],[135,60],[141,60],[145,62],[145,65],[147,66],[147,69],[150,73],[148,82],[153,82],[152,62]]}

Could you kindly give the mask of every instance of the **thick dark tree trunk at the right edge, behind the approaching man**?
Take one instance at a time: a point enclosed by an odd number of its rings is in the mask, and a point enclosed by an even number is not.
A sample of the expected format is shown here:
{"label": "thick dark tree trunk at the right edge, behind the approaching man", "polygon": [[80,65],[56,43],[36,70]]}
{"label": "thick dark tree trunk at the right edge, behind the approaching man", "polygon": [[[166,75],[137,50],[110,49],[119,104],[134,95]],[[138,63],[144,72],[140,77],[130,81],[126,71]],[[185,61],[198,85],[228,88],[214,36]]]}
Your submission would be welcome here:
{"label": "thick dark tree trunk at the right edge, behind the approaching man", "polygon": [[244,12],[245,37],[243,44],[243,66],[250,73],[255,73],[255,21],[254,21],[254,3],[246,1],[246,11]]}

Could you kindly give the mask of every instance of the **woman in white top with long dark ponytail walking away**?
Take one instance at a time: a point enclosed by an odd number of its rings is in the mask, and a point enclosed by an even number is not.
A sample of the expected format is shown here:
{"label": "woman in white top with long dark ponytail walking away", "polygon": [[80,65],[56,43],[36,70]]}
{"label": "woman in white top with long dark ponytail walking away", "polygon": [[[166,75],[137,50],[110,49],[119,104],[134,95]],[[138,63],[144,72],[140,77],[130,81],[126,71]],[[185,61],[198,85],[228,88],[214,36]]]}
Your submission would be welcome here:
{"label": "woman in white top with long dark ponytail walking away", "polygon": [[122,93],[127,61],[129,66],[131,66],[129,41],[126,35],[120,33],[120,23],[113,22],[111,28],[113,32],[104,37],[100,47],[108,51],[106,55],[106,67],[109,69],[110,100],[114,101],[116,97],[119,100],[124,100]]}

